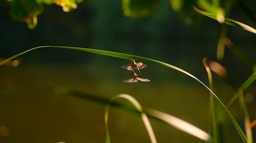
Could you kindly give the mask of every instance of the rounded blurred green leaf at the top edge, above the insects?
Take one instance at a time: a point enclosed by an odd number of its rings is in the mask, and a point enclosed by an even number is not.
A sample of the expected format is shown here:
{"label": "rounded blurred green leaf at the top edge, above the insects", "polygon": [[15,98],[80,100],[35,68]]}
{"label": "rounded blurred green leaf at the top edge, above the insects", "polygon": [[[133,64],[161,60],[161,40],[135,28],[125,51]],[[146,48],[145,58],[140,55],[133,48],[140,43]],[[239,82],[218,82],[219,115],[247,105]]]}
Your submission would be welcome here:
{"label": "rounded blurred green leaf at the top edge, above the insects", "polygon": [[159,7],[159,0],[122,0],[123,15],[142,18],[154,14]]}

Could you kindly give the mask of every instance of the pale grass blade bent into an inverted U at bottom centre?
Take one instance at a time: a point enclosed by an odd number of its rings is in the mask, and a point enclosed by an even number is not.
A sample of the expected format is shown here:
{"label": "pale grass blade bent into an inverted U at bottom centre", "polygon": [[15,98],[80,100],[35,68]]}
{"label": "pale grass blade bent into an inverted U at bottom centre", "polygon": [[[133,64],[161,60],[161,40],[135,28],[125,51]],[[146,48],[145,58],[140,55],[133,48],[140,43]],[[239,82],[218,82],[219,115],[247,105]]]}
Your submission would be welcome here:
{"label": "pale grass blade bent into an inverted U at bottom centre", "polygon": [[[117,99],[117,98],[124,98],[124,99],[128,100],[129,102],[131,102],[135,106],[135,108],[141,113],[141,119],[142,119],[142,121],[144,123],[144,126],[145,126],[145,128],[147,130],[147,134],[150,137],[151,142],[152,143],[157,143],[156,136],[155,136],[155,133],[154,133],[154,131],[152,129],[150,121],[148,120],[146,114],[143,112],[140,103],[135,98],[133,98],[132,96],[127,95],[127,94],[120,94],[120,95],[114,96],[111,99],[110,103],[113,100]],[[110,106],[110,103],[106,106],[106,109],[105,109],[105,128],[106,128],[106,142],[107,143],[110,142],[110,135],[109,135],[109,129],[108,129],[108,117],[109,117],[109,106]]]}

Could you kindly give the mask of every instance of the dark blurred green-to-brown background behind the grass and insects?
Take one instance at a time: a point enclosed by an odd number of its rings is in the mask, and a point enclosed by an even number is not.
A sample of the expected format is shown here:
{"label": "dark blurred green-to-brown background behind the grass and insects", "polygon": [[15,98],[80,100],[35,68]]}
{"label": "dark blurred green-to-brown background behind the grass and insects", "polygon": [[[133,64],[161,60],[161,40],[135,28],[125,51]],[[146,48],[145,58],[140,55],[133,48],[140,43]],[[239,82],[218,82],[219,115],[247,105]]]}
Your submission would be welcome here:
{"label": "dark blurred green-to-brown background behind the grass and insects", "polygon": [[[0,8],[0,17],[0,58],[36,46],[87,47],[166,62],[205,83],[208,79],[202,59],[216,60],[220,29],[217,21],[202,16],[197,24],[187,24],[168,1],[160,1],[155,14],[141,19],[124,17],[121,1],[84,1],[69,13],[45,5],[35,30],[29,30],[26,23],[12,21],[8,7]],[[236,6],[230,17],[255,27]],[[254,34],[229,27],[228,37],[256,60]],[[172,69],[145,63],[147,68],[141,70],[141,77],[150,82],[123,83],[131,74],[120,66],[129,64],[129,60],[57,48],[37,49],[18,59],[21,63],[17,67],[0,67],[0,142],[104,142],[105,106],[57,94],[52,90],[56,87],[105,98],[130,94],[144,106],[208,131],[209,93],[197,81]],[[251,74],[228,49],[220,63],[239,83]],[[236,91],[215,74],[214,85],[224,103]],[[255,84],[245,92],[251,119],[256,118],[254,95]],[[230,110],[243,127],[238,103]],[[226,141],[242,142],[230,120],[226,121]],[[152,124],[159,142],[202,142],[159,121],[152,120]],[[256,138],[255,128],[253,131]],[[113,142],[150,142],[139,116],[121,109],[111,110],[110,133]]]}

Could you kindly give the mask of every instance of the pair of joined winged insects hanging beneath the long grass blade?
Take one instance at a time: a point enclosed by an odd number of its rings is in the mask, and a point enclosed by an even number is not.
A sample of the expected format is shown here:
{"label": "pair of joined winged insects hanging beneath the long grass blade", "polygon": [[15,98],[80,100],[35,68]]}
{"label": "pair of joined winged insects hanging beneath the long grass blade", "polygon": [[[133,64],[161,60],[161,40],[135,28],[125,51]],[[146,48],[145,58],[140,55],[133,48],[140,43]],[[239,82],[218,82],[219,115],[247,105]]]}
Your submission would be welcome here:
{"label": "pair of joined winged insects hanging beneath the long grass blade", "polygon": [[150,81],[150,79],[141,78],[140,76],[140,69],[145,68],[146,65],[139,62],[136,63],[135,60],[131,60],[131,64],[122,65],[121,68],[127,69],[129,71],[132,71],[132,78],[126,79],[123,82],[138,82],[140,81]]}

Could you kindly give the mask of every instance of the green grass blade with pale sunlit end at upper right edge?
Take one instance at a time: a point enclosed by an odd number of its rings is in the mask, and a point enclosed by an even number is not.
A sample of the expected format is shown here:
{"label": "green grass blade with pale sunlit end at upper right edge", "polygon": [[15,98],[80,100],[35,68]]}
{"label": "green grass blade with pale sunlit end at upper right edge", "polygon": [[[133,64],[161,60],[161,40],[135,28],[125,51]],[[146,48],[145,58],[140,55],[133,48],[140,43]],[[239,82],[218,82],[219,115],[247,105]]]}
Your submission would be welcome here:
{"label": "green grass blade with pale sunlit end at upper right edge", "polygon": [[[200,13],[200,14],[202,14],[202,15],[204,15],[204,16],[207,16],[207,17],[210,17],[210,18],[212,18],[212,19],[217,20],[217,15],[216,15],[216,14],[199,10],[199,9],[197,9],[196,7],[194,7],[194,9],[195,9],[198,13]],[[231,25],[231,26],[234,26],[234,27],[242,28],[242,29],[244,29],[244,30],[246,30],[246,31],[249,31],[249,32],[251,32],[251,33],[256,34],[256,30],[255,30],[254,28],[252,28],[251,26],[248,26],[248,25],[246,25],[246,24],[244,24],[244,23],[242,23],[242,22],[239,22],[239,21],[236,21],[236,20],[233,20],[233,19],[229,19],[229,18],[225,18],[224,23],[226,23],[226,24],[228,24],[228,25]]]}

